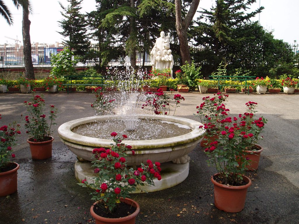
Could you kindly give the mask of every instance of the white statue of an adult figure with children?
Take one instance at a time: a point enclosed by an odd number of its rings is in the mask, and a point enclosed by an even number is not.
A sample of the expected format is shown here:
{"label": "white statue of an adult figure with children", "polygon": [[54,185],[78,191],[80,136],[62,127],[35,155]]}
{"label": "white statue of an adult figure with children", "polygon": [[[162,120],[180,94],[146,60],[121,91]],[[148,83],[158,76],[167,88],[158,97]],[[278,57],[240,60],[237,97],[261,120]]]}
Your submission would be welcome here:
{"label": "white statue of an adult figure with children", "polygon": [[170,76],[173,79],[173,55],[170,50],[169,36],[165,36],[164,31],[161,31],[160,37],[157,38],[150,55],[153,69],[163,70],[170,68]]}

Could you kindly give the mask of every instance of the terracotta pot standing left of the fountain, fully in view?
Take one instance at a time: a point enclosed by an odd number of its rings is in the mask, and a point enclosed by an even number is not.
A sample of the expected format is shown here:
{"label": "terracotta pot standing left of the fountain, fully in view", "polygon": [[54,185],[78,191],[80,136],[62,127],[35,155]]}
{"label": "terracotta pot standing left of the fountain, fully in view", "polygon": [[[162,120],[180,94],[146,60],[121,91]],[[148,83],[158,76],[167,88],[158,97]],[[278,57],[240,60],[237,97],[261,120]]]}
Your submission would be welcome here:
{"label": "terracotta pot standing left of the fountain, fully in view", "polygon": [[52,157],[52,142],[54,138],[52,136],[49,137],[51,137],[51,140],[44,142],[32,142],[30,141],[32,138],[27,140],[32,159],[48,159]]}

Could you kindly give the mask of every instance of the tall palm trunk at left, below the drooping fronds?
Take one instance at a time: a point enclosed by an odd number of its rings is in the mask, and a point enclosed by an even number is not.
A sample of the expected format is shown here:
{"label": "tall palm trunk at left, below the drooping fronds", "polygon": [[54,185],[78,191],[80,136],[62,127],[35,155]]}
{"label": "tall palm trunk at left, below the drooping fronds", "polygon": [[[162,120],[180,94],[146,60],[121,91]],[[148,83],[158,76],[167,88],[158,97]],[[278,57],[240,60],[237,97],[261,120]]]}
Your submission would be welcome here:
{"label": "tall palm trunk at left, below the drooping fronds", "polygon": [[31,43],[30,43],[30,20],[29,20],[29,10],[27,7],[23,6],[23,21],[22,21],[22,34],[23,34],[23,54],[25,63],[25,76],[28,79],[35,79],[34,70],[31,57]]}

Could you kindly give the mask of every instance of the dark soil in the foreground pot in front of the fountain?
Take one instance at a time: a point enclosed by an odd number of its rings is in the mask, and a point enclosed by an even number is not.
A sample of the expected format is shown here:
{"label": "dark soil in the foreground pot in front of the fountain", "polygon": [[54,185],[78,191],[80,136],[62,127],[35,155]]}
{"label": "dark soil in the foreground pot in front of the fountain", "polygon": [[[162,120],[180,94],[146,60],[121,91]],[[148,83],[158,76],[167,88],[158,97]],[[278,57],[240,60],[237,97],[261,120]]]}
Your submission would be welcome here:
{"label": "dark soil in the foreground pot in front of the fountain", "polygon": [[98,205],[95,205],[93,210],[95,214],[101,217],[115,219],[119,217],[126,217],[130,214],[133,214],[133,212],[136,211],[136,208],[121,202],[119,206],[116,208],[115,212],[112,214],[111,213],[107,214],[106,211],[101,206]]}

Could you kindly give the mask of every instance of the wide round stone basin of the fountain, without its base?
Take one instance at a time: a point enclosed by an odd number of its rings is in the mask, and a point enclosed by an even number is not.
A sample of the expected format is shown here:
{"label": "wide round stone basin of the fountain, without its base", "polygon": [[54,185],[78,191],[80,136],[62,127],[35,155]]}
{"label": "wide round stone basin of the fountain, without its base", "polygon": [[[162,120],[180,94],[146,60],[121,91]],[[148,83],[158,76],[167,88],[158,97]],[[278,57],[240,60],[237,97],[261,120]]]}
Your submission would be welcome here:
{"label": "wide round stone basin of the fountain, without its base", "polygon": [[[189,126],[192,130],[189,133],[155,140],[124,140],[123,143],[132,146],[132,150],[135,151],[135,155],[127,158],[128,165],[140,165],[140,163],[146,163],[147,159],[153,162],[169,162],[174,163],[186,163],[184,157],[190,153],[196,145],[202,140],[204,131],[199,128],[202,125],[200,122],[164,115],[138,115],[139,119],[157,119],[162,121],[175,122]],[[99,139],[88,136],[83,136],[72,132],[71,130],[85,123],[94,121],[110,120],[110,119],[122,119],[120,115],[105,115],[105,116],[93,116],[72,120],[62,124],[58,128],[58,134],[62,142],[68,146],[68,148],[76,154],[78,157],[88,161],[92,161],[92,150],[94,148],[109,148],[113,143],[110,139]],[[149,130],[151,131],[151,130]],[[117,130],[115,132],[118,133]],[[121,133],[118,133],[121,135]],[[181,160],[181,161],[180,161]]]}

